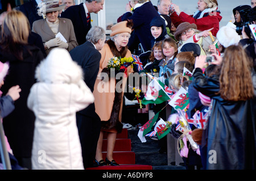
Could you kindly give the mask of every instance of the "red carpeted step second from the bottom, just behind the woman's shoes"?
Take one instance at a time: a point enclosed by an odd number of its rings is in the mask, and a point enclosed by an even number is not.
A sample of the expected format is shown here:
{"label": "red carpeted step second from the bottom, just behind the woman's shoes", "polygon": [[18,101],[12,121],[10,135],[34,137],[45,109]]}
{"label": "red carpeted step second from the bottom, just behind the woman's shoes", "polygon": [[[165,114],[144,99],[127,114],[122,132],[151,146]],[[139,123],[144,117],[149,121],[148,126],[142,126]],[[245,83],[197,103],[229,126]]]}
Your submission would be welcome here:
{"label": "red carpeted step second from the bottom, just behind the woman's shoes", "polygon": [[[106,151],[102,151],[103,159],[106,158]],[[113,158],[118,164],[135,164],[134,151],[114,151]]]}

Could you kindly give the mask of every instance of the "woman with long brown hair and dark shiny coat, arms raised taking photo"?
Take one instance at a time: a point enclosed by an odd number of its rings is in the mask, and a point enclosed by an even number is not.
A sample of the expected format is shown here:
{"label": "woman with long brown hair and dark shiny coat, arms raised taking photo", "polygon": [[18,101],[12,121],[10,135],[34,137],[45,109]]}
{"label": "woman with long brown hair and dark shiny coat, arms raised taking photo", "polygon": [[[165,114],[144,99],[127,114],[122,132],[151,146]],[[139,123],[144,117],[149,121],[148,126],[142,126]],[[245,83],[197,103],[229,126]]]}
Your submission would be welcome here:
{"label": "woman with long brown hair and dark shiny coat, arms raised taking photo", "polygon": [[[256,99],[251,78],[252,65],[239,45],[226,48],[212,77],[201,70],[206,56],[196,58],[193,87],[212,99],[208,125],[202,144],[207,145],[206,169],[255,169]],[[213,155],[214,154],[214,155]],[[202,154],[201,154],[202,155]]]}

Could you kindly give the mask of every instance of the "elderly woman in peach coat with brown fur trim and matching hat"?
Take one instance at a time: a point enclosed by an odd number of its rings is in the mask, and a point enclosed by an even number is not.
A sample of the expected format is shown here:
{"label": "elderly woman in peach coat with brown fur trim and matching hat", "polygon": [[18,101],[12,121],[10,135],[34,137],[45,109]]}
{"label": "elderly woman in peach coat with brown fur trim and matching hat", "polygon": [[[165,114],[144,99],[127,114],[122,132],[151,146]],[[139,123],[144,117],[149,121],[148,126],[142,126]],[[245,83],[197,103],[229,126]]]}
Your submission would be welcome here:
{"label": "elderly woman in peach coat with brown fur trim and matching hat", "polygon": [[[106,41],[104,48],[100,51],[100,70],[93,91],[96,113],[100,116],[102,121],[102,128],[96,151],[96,163],[99,166],[106,165],[106,163],[113,166],[118,165],[113,159],[113,150],[117,132],[122,131],[122,100],[127,77],[125,74],[121,74],[123,75],[123,79],[120,80],[121,78],[118,77],[120,74],[115,76],[115,74],[110,73],[107,65],[110,58],[113,58],[114,56],[121,58],[131,57],[131,52],[127,48],[127,44],[132,26],[133,23],[127,21],[115,24],[111,28],[112,33],[110,33],[110,40]],[[132,71],[133,69],[129,66],[127,68],[127,76]],[[104,132],[108,132],[106,162],[102,157],[102,139]]]}

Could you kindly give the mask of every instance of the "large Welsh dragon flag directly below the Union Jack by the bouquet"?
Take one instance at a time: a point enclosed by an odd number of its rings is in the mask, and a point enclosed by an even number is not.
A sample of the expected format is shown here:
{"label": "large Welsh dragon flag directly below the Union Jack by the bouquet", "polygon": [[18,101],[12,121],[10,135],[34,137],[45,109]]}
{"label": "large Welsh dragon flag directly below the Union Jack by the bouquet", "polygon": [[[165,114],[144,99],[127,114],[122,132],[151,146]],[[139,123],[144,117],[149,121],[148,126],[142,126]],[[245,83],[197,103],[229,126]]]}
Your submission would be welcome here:
{"label": "large Welsh dragon flag directly below the Union Jack by the bouquet", "polygon": [[148,84],[146,95],[142,99],[142,104],[160,104],[169,99],[170,97],[167,95],[166,91],[164,91],[164,83],[154,78]]}

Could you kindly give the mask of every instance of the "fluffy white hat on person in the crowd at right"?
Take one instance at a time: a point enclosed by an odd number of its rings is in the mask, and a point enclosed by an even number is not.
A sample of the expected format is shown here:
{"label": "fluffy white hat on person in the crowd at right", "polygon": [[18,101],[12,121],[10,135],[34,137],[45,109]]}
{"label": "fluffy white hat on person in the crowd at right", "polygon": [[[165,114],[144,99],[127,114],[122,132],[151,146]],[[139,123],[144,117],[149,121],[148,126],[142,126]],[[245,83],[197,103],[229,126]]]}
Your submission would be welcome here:
{"label": "fluffy white hat on person in the crowd at right", "polygon": [[236,30],[229,26],[221,27],[220,30],[218,30],[216,37],[218,42],[220,42],[220,44],[225,48],[230,45],[237,45],[241,40],[241,37],[238,35]]}

